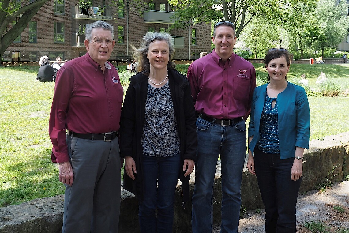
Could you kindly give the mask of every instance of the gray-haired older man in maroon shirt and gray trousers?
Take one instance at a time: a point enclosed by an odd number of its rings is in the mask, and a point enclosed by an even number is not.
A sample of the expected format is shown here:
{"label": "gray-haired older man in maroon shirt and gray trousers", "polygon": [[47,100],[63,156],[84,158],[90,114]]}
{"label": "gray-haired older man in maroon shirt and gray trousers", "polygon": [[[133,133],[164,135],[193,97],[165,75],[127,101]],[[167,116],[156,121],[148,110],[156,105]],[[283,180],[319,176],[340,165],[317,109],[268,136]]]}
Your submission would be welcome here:
{"label": "gray-haired older man in maroon shirt and gray trousers", "polygon": [[63,233],[118,232],[123,89],[107,62],[113,27],[96,21],[86,28],[86,55],[57,72],[49,134],[52,161],[64,183]]}

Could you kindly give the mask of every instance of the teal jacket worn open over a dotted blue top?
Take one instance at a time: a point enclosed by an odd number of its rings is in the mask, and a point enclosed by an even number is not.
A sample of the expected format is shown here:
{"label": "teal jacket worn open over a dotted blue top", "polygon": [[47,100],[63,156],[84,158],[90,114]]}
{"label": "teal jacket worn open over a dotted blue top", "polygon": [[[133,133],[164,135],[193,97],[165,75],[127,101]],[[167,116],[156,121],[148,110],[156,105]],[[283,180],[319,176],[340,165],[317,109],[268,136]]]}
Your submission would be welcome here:
{"label": "teal jacket worn open over a dotted blue top", "polygon": [[[253,136],[248,148],[254,151],[260,139],[260,122],[267,84],[254,89],[248,137]],[[309,149],[310,110],[304,88],[288,82],[284,91],[277,95],[277,122],[279,125],[280,158],[295,156],[296,146]]]}

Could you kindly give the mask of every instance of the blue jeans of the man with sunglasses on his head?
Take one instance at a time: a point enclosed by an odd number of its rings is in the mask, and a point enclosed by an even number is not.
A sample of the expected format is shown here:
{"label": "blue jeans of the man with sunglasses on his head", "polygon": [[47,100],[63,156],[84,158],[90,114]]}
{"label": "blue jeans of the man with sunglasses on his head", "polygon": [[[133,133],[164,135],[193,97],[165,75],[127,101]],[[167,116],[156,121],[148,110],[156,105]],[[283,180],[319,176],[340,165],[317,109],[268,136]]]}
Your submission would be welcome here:
{"label": "blue jeans of the man with sunglasses on his head", "polygon": [[193,233],[211,233],[213,224],[213,184],[218,156],[222,170],[221,232],[237,233],[241,207],[241,179],[246,156],[245,121],[221,126],[198,118],[198,157],[193,194]]}

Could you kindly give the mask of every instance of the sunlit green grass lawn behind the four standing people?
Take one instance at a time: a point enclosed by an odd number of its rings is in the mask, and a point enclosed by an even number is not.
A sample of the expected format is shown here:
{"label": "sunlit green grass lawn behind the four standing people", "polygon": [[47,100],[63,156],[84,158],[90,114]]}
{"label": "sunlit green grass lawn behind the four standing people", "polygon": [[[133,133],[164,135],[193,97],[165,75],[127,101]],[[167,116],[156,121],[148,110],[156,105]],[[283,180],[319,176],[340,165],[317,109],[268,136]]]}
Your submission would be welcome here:
{"label": "sunlit green grass lawn behind the four standing people", "polygon": [[[186,73],[187,67],[177,68]],[[255,67],[266,75],[261,64]],[[64,193],[48,134],[54,83],[35,82],[38,68],[0,67],[0,207]],[[126,91],[131,74],[119,68]],[[289,75],[305,73],[312,84],[321,71],[348,87],[349,64],[292,64]],[[309,102],[311,139],[349,131],[348,97],[309,97]]]}

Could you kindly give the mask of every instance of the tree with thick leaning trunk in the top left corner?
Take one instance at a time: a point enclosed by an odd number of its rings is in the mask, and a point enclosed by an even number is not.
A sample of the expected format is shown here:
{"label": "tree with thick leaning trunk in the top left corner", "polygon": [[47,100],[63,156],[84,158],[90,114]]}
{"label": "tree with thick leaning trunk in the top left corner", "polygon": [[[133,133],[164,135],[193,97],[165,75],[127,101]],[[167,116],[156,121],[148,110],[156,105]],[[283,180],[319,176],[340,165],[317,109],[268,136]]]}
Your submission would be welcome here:
{"label": "tree with thick leaning trunk in the top left corner", "polygon": [[[2,66],[2,56],[8,46],[19,36],[27,27],[31,18],[48,0],[36,0],[31,3],[17,0],[2,0],[0,2],[0,66]],[[15,25],[9,26],[15,22]]]}

